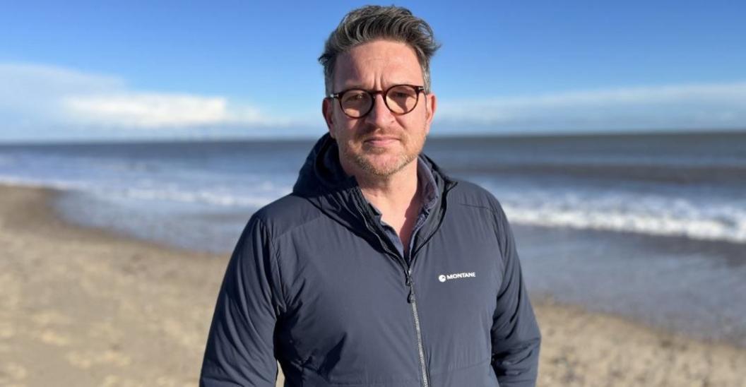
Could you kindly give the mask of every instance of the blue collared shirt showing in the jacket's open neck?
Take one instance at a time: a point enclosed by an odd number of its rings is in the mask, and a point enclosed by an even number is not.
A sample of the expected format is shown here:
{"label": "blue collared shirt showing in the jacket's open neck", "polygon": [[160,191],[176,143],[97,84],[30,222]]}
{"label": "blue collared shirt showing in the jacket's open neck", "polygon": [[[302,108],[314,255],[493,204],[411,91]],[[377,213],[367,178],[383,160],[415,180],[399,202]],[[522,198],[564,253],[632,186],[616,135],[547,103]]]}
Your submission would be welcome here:
{"label": "blue collared shirt showing in the jacket's open neck", "polygon": [[[410,236],[410,245],[408,248],[408,251],[410,252],[412,251],[417,231],[422,227],[424,221],[427,219],[427,215],[430,215],[430,210],[433,210],[433,207],[435,207],[438,201],[439,192],[436,187],[435,177],[433,177],[433,172],[430,171],[430,167],[424,163],[421,157],[417,157],[417,192],[420,195],[422,208],[420,209],[417,221],[412,229],[412,236]],[[383,214],[381,214],[373,204],[370,204],[370,206],[376,219],[380,222],[381,227],[383,227],[383,231],[386,232],[386,236],[388,236],[391,242],[396,246],[401,257],[409,259],[409,255],[404,254],[404,243],[401,242],[394,227],[389,226],[389,224],[386,224],[386,222],[383,221]]]}

